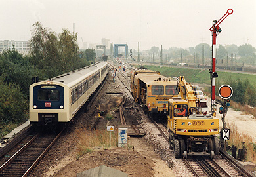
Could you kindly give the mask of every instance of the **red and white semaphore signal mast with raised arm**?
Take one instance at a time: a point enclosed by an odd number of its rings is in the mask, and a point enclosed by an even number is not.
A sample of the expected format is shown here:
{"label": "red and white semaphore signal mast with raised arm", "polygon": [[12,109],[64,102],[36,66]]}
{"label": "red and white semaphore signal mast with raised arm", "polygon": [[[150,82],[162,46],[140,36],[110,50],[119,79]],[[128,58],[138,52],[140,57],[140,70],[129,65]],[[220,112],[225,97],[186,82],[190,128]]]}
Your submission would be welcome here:
{"label": "red and white semaphore signal mast with raised arm", "polygon": [[209,29],[211,31],[211,58],[212,58],[212,69],[211,73],[211,111],[213,115],[216,115],[216,104],[215,104],[215,79],[218,77],[215,68],[216,68],[216,37],[221,32],[221,28],[219,24],[223,22],[223,20],[233,13],[233,9],[228,9],[226,14],[224,14],[221,19],[213,20],[213,26]]}

